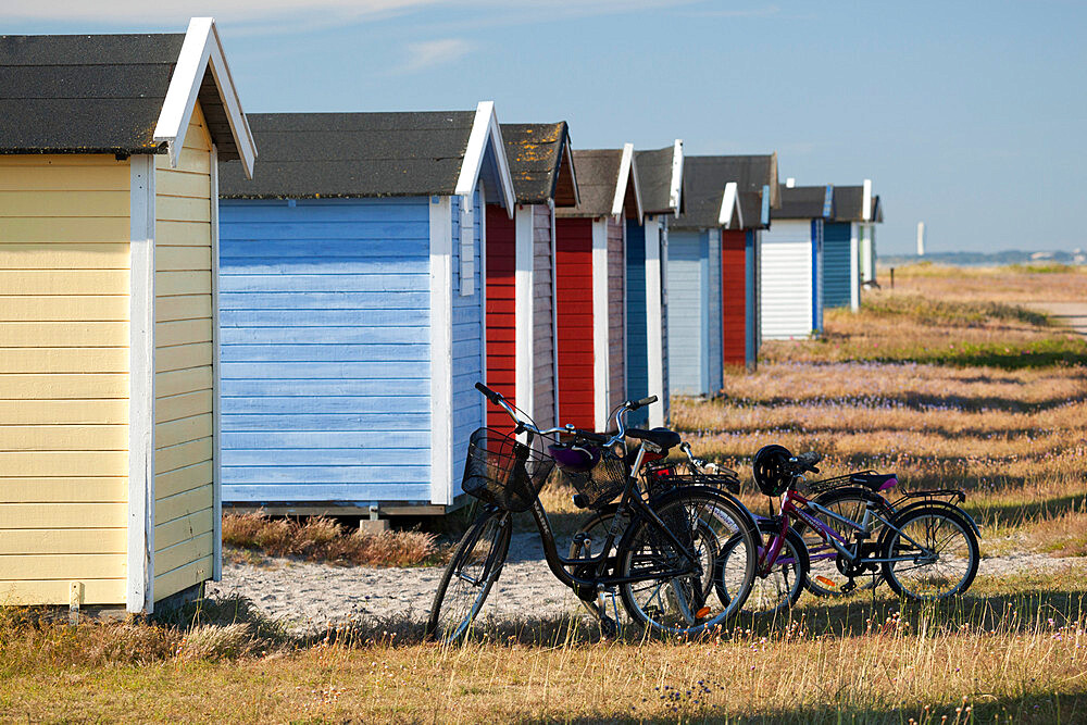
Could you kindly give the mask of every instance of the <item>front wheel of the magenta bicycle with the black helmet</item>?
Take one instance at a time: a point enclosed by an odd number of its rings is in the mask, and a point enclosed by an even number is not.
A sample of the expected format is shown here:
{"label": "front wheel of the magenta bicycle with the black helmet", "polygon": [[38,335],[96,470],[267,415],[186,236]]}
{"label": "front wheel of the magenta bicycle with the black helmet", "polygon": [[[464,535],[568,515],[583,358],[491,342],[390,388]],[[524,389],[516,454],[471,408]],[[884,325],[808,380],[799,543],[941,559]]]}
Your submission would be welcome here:
{"label": "front wheel of the magenta bicycle with the black helmet", "polygon": [[[763,535],[763,550],[770,547],[778,530],[778,526],[771,521],[759,522],[759,532]],[[734,536],[725,543],[721,551],[719,566],[723,570],[727,568],[728,558],[733,555],[739,543],[738,536]],[[760,550],[760,557],[763,555],[763,550]],[[804,546],[803,539],[795,530],[789,529],[785,535],[785,542],[782,545],[782,551],[774,565],[766,572],[760,568],[755,573],[751,595],[748,597],[744,611],[758,615],[776,614],[790,609],[803,593],[807,580],[808,547]],[[727,579],[724,576],[714,576],[714,586],[717,599],[721,600],[722,604],[727,605],[732,599],[727,589]]]}

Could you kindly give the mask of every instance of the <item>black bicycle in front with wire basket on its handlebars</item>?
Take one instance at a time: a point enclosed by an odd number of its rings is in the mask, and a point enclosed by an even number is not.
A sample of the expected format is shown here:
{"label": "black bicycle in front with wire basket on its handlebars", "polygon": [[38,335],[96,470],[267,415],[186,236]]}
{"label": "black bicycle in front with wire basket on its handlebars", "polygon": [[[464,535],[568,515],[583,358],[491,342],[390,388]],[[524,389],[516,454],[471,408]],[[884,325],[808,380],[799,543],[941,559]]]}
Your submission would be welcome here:
{"label": "black bicycle in front with wire basket on its handlebars", "polygon": [[[528,511],[540,534],[551,573],[582,600],[597,601],[604,634],[617,632],[619,607],[644,626],[695,636],[711,630],[739,611],[754,578],[759,545],[750,513],[707,486],[680,486],[648,498],[637,474],[646,455],[666,454],[679,436],[666,429],[626,428],[629,411],[657,401],[655,396],[627,401],[614,415],[614,435],[579,430],[572,425],[539,429],[498,392],[476,388],[514,421],[513,433],[479,428],[472,435],[463,489],[485,503],[454,550],[435,592],[426,624],[428,637],[442,642],[464,638],[501,575],[510,546],[512,516]],[[523,440],[517,436],[524,436]],[[626,437],[638,440],[628,451]],[[554,442],[542,450],[542,440]],[[536,447],[535,443],[539,443]],[[561,557],[539,490],[558,467],[578,489],[586,508],[609,505],[619,497],[616,515],[602,551]],[[617,540],[617,543],[615,543]],[[720,566],[723,541],[735,540],[733,561]],[[711,576],[727,577],[737,596],[714,610]],[[610,596],[615,618],[607,614]]]}

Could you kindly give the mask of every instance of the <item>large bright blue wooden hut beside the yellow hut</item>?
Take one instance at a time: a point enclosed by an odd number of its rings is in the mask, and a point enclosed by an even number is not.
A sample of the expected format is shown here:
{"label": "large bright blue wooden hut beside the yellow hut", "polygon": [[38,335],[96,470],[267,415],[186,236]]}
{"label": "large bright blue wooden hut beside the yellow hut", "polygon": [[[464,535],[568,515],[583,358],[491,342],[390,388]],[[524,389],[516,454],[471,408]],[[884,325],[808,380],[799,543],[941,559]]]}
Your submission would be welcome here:
{"label": "large bright blue wooden hut beside the yellow hut", "polygon": [[224,502],[449,510],[485,417],[484,207],[514,208],[493,104],[249,122],[255,178],[220,184]]}

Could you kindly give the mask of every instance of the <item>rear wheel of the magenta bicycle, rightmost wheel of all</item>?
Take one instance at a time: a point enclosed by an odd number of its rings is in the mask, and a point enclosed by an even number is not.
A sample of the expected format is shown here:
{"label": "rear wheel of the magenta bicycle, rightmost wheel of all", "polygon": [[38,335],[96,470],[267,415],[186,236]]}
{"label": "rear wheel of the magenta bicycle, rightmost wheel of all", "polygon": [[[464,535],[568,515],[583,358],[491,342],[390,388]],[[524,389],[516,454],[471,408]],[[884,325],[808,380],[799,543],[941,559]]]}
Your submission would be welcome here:
{"label": "rear wheel of the magenta bicycle, rightmost wheel of all", "polygon": [[900,597],[937,601],[964,592],[977,574],[977,537],[953,508],[921,505],[903,510],[884,532],[884,578]]}

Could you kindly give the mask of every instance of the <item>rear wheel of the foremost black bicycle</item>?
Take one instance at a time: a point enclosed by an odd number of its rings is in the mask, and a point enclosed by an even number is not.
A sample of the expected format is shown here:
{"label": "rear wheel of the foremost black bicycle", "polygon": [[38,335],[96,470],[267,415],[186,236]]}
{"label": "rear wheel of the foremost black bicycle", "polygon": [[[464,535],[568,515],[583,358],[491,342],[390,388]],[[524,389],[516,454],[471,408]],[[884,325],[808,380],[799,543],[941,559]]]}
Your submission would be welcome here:
{"label": "rear wheel of the foremost black bicycle", "polygon": [[[703,486],[677,488],[654,499],[652,507],[697,561],[692,572],[676,574],[690,567],[689,558],[654,522],[638,517],[619,546],[616,572],[639,579],[620,586],[630,618],[670,634],[697,635],[738,613],[758,563],[759,535],[747,510]],[[719,566],[725,542],[734,538],[733,554]],[[720,609],[709,602],[715,577],[724,577],[735,592]]]}

